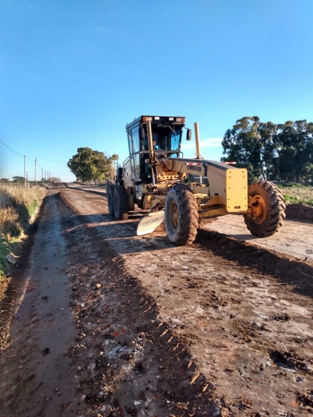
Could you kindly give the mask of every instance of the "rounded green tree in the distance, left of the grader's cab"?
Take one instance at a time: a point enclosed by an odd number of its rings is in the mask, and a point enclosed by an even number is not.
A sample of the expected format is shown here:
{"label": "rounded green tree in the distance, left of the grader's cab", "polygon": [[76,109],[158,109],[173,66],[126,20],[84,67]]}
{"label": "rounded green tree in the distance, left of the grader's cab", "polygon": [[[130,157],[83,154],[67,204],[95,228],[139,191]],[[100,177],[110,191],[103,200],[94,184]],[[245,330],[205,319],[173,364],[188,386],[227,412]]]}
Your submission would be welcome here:
{"label": "rounded green tree in the distance, left of the grader's cab", "polygon": [[109,156],[91,148],[78,148],[67,166],[78,181],[106,181],[114,176],[113,161],[118,159],[115,154]]}

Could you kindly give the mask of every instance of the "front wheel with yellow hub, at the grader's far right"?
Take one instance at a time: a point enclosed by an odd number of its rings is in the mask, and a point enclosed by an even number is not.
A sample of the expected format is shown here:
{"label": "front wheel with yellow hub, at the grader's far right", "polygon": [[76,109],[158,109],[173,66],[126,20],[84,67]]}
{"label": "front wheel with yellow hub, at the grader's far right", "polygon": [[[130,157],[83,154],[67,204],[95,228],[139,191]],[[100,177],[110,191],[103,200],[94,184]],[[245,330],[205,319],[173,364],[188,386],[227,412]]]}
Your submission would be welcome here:
{"label": "front wheel with yellow hub, at the grader's far right", "polygon": [[248,195],[256,202],[251,212],[244,214],[247,229],[255,236],[271,236],[277,232],[286,217],[285,200],[279,188],[269,181],[259,181],[248,189]]}

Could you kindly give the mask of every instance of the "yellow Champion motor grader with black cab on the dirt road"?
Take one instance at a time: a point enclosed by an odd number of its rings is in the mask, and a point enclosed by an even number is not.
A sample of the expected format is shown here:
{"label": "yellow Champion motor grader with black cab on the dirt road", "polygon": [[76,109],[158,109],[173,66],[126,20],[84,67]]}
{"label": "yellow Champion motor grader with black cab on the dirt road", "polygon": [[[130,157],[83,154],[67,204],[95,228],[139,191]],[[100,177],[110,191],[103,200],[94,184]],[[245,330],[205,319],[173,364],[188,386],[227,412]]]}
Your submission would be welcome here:
{"label": "yellow Champion motor grader with black cab on the dirt road", "polygon": [[[148,211],[137,234],[151,233],[165,220],[169,240],[192,244],[201,219],[243,215],[255,236],[270,236],[283,224],[284,198],[278,187],[258,181],[248,187],[247,170],[230,163],[204,160],[198,124],[194,124],[196,158],[181,151],[184,117],[140,116],[126,125],[129,156],[107,190],[110,216],[128,218],[135,204]],[[186,139],[191,139],[187,129]],[[189,180],[196,174],[199,181]],[[208,184],[202,178],[208,179]]]}

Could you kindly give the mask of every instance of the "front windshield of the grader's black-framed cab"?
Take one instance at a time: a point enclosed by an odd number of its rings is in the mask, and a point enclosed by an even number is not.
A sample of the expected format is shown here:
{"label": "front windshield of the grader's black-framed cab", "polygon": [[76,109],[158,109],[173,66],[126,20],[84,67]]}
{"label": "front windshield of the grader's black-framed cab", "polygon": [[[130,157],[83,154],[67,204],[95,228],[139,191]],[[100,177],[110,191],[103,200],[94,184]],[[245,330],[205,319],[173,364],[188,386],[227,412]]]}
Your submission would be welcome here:
{"label": "front windshield of the grader's black-framed cab", "polygon": [[[172,129],[171,129],[172,128]],[[152,125],[152,141],[156,150],[178,151],[182,126]]]}

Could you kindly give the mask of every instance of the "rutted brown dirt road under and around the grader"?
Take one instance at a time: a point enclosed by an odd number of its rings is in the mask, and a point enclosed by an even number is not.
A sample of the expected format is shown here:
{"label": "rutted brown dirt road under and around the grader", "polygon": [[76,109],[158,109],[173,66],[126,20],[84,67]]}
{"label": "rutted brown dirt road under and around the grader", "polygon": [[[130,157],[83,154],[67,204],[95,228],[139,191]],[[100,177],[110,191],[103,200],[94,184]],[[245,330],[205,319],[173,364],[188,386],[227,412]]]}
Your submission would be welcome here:
{"label": "rutted brown dirt road under and around the grader", "polygon": [[136,236],[140,216],[50,192],[16,275],[4,415],[313,414],[312,224],[287,221],[260,247],[227,216],[236,237],[212,231],[225,217],[177,248],[162,228]]}

